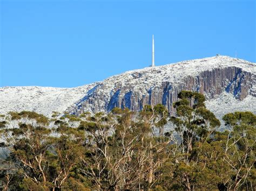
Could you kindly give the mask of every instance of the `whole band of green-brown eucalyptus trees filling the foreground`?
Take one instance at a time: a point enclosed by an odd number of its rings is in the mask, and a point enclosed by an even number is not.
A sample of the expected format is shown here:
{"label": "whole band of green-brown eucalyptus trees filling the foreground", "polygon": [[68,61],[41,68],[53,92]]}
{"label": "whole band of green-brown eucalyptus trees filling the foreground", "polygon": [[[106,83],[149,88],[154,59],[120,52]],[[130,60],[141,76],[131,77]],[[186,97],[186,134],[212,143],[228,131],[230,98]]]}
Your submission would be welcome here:
{"label": "whole band of green-brown eucalyptus trees filling the foreground", "polygon": [[[256,116],[223,117],[205,97],[181,91],[173,104],[109,114],[10,112],[1,116],[3,190],[254,190]],[[166,131],[171,123],[173,131]]]}

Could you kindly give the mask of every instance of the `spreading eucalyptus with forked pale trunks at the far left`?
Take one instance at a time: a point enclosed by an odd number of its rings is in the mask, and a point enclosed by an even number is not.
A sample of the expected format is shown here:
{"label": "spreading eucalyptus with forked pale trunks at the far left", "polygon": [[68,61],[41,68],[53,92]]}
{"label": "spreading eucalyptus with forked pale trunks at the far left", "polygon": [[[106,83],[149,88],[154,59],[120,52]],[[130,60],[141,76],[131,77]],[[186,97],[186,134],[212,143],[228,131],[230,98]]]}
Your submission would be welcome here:
{"label": "spreading eucalyptus with forked pale trunks at the far left", "polygon": [[8,150],[9,189],[63,187],[83,154],[84,137],[67,123],[49,128],[49,118],[31,111],[10,112],[11,126],[1,128]]}

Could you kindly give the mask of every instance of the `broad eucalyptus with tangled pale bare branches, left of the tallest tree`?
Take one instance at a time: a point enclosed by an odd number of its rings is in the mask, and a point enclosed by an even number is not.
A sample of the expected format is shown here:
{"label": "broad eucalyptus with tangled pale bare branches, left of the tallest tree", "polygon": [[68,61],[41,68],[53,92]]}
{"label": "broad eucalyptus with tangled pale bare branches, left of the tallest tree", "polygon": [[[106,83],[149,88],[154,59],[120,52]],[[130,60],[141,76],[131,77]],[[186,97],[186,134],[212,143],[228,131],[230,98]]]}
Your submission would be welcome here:
{"label": "broad eucalyptus with tangled pale bare branches, left of the tallest tree", "polygon": [[87,136],[80,171],[95,189],[148,189],[158,180],[159,167],[168,158],[168,142],[152,137],[150,123],[139,116],[114,108],[81,123],[79,129]]}

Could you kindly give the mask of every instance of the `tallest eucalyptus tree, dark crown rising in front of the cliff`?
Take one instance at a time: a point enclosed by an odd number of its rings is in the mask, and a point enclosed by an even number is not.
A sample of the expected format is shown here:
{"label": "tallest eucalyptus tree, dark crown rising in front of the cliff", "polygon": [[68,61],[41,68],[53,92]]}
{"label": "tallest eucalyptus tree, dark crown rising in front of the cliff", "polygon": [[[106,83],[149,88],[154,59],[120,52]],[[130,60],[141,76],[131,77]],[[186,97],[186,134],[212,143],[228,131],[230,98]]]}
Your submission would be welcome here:
{"label": "tallest eucalyptus tree, dark crown rising in front of the cliff", "polygon": [[[173,104],[176,116],[170,118],[180,138],[180,154],[176,155],[173,179],[183,189],[196,189],[201,171],[201,154],[212,133],[220,126],[219,120],[206,109],[205,97],[192,91],[181,91]],[[181,187],[182,188],[182,187]]]}

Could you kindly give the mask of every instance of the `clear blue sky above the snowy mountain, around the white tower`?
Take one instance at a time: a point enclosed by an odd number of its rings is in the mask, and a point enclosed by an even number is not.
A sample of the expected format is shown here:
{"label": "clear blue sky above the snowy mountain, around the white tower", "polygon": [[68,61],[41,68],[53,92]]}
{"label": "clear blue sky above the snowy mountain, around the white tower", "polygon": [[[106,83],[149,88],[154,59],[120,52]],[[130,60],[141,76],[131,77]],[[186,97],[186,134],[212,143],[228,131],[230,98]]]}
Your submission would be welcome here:
{"label": "clear blue sky above the snowy mountain, around the white tower", "polygon": [[[255,62],[255,1],[0,0],[0,86],[76,87],[151,64]],[[202,66],[203,67],[203,66]]]}

